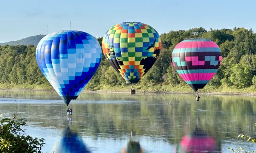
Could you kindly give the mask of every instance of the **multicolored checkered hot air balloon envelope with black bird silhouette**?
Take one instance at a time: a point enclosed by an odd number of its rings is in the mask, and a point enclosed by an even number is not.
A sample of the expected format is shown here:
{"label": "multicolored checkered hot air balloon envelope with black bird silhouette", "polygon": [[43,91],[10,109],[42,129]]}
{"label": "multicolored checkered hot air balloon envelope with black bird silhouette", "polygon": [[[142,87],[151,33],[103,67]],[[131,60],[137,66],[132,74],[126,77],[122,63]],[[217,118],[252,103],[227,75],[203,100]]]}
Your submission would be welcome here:
{"label": "multicolored checkered hot air balloon envelope with black bird silhouette", "polygon": [[102,50],[126,83],[138,83],[155,63],[161,49],[157,31],[140,22],[123,22],[109,28]]}

